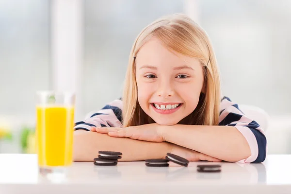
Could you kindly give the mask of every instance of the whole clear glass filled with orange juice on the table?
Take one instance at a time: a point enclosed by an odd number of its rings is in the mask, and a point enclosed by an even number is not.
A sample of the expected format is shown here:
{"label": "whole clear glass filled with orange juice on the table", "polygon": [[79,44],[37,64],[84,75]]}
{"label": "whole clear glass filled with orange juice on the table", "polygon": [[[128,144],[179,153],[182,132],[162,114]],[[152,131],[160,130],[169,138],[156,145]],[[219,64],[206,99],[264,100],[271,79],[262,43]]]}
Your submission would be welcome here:
{"label": "whole clear glass filled with orange juice on the table", "polygon": [[65,172],[73,161],[75,94],[37,92],[36,153],[40,172]]}

